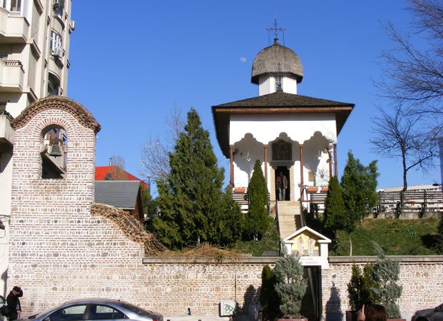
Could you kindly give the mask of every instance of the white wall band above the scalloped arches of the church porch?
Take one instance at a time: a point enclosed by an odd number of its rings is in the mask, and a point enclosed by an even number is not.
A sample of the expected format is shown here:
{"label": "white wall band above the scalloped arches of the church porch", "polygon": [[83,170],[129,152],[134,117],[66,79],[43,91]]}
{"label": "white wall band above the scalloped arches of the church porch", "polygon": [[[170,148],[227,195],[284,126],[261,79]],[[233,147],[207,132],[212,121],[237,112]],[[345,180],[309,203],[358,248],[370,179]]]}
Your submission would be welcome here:
{"label": "white wall band above the scalloped arches of the church porch", "polygon": [[334,113],[307,113],[282,115],[231,115],[229,144],[234,145],[251,133],[263,144],[275,140],[282,132],[291,140],[304,143],[316,131],[336,143],[336,122]]}

